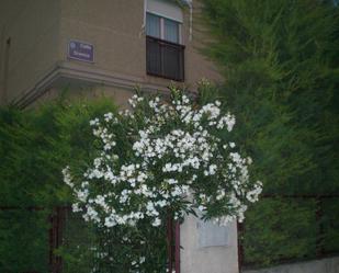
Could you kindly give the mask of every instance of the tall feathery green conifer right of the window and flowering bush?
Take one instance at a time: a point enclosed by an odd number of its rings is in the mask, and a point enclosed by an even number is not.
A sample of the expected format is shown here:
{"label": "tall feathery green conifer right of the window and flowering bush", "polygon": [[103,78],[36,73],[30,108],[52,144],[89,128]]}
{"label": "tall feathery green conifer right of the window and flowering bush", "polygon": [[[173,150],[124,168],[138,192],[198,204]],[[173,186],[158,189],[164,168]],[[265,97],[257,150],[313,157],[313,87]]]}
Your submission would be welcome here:
{"label": "tall feathery green conifer right of the window and flowering bush", "polygon": [[[338,8],[318,0],[205,0],[204,15],[214,37],[205,54],[224,76],[221,95],[238,117],[238,138],[258,162],[264,193],[338,193]],[[271,205],[262,201],[262,209],[248,212],[246,224],[248,257],[260,251],[258,240],[264,239],[265,264],[284,258],[274,257],[279,251],[285,258],[291,252],[272,228],[262,227],[297,214],[292,204],[282,214]],[[306,223],[309,214],[298,215]],[[332,211],[324,217],[336,229]],[[280,236],[289,230],[282,229]],[[290,237],[295,234],[290,231]]]}

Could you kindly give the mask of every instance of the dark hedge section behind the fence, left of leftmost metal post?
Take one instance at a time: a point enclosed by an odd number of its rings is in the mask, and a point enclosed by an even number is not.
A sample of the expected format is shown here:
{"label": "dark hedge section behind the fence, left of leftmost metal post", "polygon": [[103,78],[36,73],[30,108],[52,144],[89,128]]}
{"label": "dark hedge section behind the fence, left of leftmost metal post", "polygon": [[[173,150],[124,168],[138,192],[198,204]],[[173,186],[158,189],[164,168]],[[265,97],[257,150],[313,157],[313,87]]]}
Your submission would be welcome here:
{"label": "dark hedge section behind the fence, left of leftmost metal post", "polygon": [[48,272],[46,212],[0,209],[0,271]]}

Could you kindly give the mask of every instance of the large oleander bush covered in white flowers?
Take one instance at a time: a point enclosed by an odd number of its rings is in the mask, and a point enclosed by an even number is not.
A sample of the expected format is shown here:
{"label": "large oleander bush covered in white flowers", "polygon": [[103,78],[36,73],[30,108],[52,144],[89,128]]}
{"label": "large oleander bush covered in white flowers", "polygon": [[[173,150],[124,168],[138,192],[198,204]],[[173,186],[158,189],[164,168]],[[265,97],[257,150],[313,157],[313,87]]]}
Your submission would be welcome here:
{"label": "large oleander bush covered in white flowers", "polygon": [[163,227],[166,217],[187,214],[241,221],[261,183],[249,179],[251,159],[231,141],[235,116],[217,100],[197,105],[174,88],[170,101],[135,94],[129,104],[90,121],[91,166],[63,170],[74,212],[102,230]]}

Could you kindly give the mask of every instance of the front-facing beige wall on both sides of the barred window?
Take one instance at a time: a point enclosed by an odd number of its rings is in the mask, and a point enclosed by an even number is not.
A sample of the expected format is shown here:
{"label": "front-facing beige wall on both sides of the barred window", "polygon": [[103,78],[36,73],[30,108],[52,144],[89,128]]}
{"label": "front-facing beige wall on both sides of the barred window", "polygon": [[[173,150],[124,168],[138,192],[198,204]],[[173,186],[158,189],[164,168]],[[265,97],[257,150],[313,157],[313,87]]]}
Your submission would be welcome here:
{"label": "front-facing beige wall on both sides of the barred window", "polygon": [[[59,59],[67,60],[67,43],[79,39],[94,45],[94,64],[82,64],[135,81],[168,86],[169,80],[146,75],[144,0],[61,0]],[[218,78],[212,62],[196,52],[189,38],[189,10],[184,11],[185,84],[194,89],[201,78]],[[194,25],[193,25],[194,26]],[[69,60],[71,62],[78,62]]]}

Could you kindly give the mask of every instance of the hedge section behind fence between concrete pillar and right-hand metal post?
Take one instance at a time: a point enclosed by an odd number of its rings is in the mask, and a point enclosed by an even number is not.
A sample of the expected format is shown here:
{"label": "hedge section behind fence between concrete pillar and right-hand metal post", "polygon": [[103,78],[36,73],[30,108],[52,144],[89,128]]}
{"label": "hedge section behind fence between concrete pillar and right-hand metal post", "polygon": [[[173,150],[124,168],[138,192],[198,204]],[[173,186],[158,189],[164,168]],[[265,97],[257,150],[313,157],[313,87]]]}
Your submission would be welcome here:
{"label": "hedge section behind fence between concrete pillar and right-hand metal post", "polygon": [[264,198],[247,214],[244,258],[248,265],[269,265],[317,254],[316,202]]}

